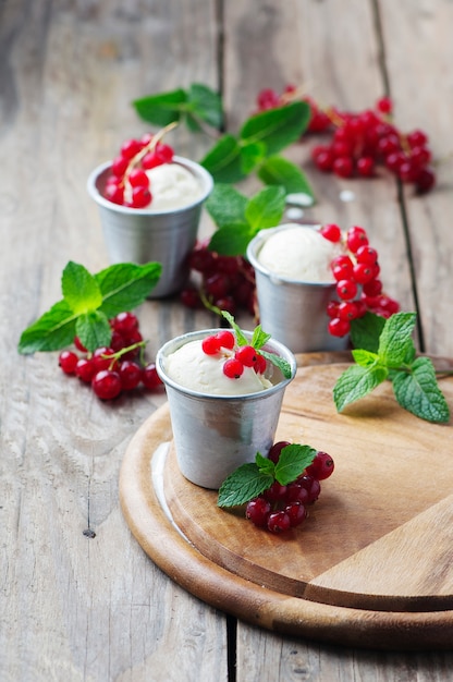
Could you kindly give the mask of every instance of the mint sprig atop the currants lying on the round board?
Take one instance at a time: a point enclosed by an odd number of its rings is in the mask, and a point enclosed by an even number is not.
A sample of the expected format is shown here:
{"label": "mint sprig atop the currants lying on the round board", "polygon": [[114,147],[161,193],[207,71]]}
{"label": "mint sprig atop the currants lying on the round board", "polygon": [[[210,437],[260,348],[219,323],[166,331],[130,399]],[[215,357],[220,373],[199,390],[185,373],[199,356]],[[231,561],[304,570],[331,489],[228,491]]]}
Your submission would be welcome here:
{"label": "mint sprig atop the currants lying on the round board", "polygon": [[259,452],[255,462],[238,466],[219,488],[218,507],[238,507],[261,495],[276,480],[286,486],[311,464],[316,450],[310,446],[291,444],[282,449],[274,464]]}

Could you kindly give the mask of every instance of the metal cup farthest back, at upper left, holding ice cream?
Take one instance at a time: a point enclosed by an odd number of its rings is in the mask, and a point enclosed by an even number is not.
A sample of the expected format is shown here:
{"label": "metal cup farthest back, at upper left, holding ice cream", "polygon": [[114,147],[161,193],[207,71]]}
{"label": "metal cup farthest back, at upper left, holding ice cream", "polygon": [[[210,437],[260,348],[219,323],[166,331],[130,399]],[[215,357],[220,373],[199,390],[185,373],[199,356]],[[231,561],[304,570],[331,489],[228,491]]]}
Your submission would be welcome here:
{"label": "metal cup farthest back, at upper left, holding ice cream", "polygon": [[88,194],[99,207],[110,263],[158,261],[162,265],[162,275],[150,299],[169,296],[184,287],[203,203],[213,186],[212,176],[203,166],[177,156],[173,162],[191,171],[201,187],[201,194],[193,203],[175,210],[128,208],[106,199],[102,195],[110,162],[96,168],[87,182]]}

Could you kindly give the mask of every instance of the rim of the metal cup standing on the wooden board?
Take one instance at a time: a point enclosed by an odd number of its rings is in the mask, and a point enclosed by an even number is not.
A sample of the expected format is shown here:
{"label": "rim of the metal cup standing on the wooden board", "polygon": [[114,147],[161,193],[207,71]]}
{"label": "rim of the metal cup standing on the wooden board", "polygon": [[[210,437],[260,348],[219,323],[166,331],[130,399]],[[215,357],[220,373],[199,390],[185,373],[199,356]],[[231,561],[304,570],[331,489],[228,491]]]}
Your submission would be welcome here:
{"label": "rim of the metal cup standing on the wooden board", "polygon": [[[237,401],[256,400],[257,398],[262,398],[264,394],[270,395],[271,393],[280,391],[282,388],[285,388],[294,379],[297,372],[297,362],[294,353],[290,351],[286,345],[284,345],[280,341],[277,341],[276,339],[269,339],[269,341],[264,345],[264,349],[268,352],[274,351],[280,357],[283,357],[289,363],[291,367],[291,377],[286,379],[282,376],[282,379],[278,383],[274,383],[270,388],[267,388],[262,391],[255,391],[254,393],[236,393],[234,395],[225,395],[223,393],[205,393],[201,391],[195,391],[193,389],[185,388],[184,386],[181,386],[181,383],[177,383],[171,377],[169,377],[164,368],[164,358],[170,354],[170,352],[174,353],[174,351],[180,349],[182,345],[185,345],[189,341],[197,341],[198,339],[204,339],[208,336],[218,333],[219,331],[225,331],[225,329],[218,328],[201,329],[199,331],[188,331],[187,333],[181,334],[180,337],[175,337],[174,339],[170,339],[169,341],[167,341],[156,354],[156,370],[163,383],[171,386],[171,388],[175,389],[180,393],[184,393],[185,395],[193,395],[194,398]],[[253,336],[252,331],[243,331],[243,334],[248,339],[252,339]]]}

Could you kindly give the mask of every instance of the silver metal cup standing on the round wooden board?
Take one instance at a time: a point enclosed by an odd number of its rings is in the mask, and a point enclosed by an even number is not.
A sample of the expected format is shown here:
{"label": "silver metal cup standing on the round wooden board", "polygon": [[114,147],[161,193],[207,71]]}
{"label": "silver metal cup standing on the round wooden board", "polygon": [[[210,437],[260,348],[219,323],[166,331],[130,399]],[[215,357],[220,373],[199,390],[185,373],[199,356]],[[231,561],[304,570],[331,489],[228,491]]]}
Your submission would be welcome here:
{"label": "silver metal cup standing on the round wooden board", "polygon": [[[172,339],[156,356],[157,372],[167,388],[181,473],[192,483],[215,490],[237,466],[254,462],[257,452],[267,454],[273,443],[284,390],[297,368],[293,353],[270,340],[265,350],[277,353],[291,367],[291,378],[285,379],[268,361],[265,377],[272,382],[271,388],[241,395],[212,395],[173,381],[166,372],[166,358],[185,343],[218,331],[208,329]],[[252,337],[248,332],[245,336]]]}

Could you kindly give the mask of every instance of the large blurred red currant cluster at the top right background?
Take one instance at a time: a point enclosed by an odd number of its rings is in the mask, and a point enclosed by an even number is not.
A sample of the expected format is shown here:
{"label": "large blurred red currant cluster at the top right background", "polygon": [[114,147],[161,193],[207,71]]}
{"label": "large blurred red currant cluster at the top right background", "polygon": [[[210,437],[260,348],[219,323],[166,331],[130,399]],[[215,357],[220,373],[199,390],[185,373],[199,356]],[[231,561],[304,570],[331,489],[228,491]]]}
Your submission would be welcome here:
{"label": "large blurred red currant cluster at the top right background", "polygon": [[378,167],[384,167],[403,183],[415,185],[425,194],[436,184],[436,173],[430,166],[431,151],[428,136],[420,130],[400,131],[392,121],[392,100],[382,97],[375,109],[358,113],[340,111],[334,107],[322,110],[311,98],[301,95],[292,85],[282,95],[272,89],[258,94],[260,111],[282,107],[295,99],[307,101],[311,118],[308,133],[330,132],[329,144],[317,145],[311,150],[316,167],[339,178],[372,178]]}

